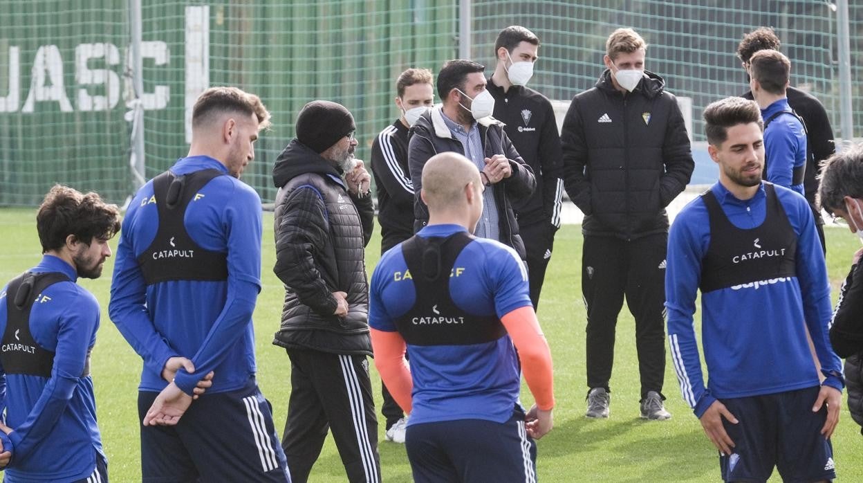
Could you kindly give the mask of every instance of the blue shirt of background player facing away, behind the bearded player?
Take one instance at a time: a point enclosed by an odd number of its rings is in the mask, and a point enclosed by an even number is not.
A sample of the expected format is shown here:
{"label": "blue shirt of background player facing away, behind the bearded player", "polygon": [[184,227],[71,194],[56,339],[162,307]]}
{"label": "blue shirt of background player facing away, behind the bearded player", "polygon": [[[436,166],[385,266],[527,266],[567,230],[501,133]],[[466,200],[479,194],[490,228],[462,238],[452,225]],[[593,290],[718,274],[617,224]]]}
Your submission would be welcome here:
{"label": "blue shirt of background player facing away, behind the bearded player", "polygon": [[792,185],[794,168],[806,165],[806,130],[803,124],[793,115],[788,99],[779,99],[766,109],[761,110],[761,118],[767,121],[777,112],[780,114],[765,127],[764,149],[767,160],[765,180],[790,187],[799,194],[803,193],[803,183]]}

